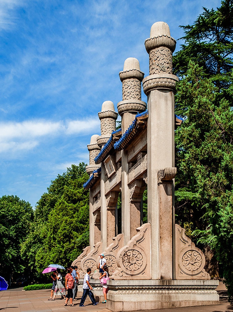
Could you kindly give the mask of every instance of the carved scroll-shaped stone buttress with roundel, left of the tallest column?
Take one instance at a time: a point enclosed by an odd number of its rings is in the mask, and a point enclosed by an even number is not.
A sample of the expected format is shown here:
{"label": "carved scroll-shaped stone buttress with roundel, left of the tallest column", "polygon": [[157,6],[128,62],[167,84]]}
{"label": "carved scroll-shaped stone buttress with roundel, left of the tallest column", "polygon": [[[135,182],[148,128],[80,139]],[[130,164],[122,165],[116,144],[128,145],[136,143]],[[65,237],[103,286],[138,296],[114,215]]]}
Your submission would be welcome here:
{"label": "carved scroll-shaped stone buttress with roundel, left of the tallest column", "polygon": [[116,256],[117,269],[112,278],[114,280],[127,279],[151,279],[151,224],[145,223],[138,227],[137,234],[128,244],[122,247]]}

